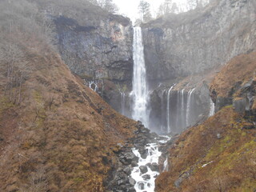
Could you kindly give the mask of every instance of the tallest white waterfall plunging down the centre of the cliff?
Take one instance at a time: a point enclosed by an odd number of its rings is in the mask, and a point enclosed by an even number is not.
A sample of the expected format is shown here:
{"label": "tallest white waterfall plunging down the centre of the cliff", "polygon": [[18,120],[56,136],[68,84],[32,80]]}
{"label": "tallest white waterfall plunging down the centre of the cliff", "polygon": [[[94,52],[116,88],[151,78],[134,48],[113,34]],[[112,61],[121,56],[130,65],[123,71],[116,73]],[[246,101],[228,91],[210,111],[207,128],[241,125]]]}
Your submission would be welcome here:
{"label": "tallest white waterfall plunging down the centre of the cliff", "polygon": [[148,86],[146,82],[146,67],[144,48],[142,44],[142,29],[134,27],[134,77],[133,77],[133,112],[132,118],[148,126],[149,113],[147,112]]}

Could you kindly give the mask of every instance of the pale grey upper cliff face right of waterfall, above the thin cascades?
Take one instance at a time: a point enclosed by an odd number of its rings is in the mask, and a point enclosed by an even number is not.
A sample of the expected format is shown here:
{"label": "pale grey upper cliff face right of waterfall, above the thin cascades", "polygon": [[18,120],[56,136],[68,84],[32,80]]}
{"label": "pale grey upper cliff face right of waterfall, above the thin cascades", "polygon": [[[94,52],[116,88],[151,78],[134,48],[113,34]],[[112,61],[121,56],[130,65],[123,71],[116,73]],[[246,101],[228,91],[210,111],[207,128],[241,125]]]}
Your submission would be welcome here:
{"label": "pale grey upper cliff face right of waterfall, above the thin cascades", "polygon": [[254,1],[221,0],[205,10],[169,15],[146,24],[143,41],[148,78],[196,74],[254,50],[255,10]]}

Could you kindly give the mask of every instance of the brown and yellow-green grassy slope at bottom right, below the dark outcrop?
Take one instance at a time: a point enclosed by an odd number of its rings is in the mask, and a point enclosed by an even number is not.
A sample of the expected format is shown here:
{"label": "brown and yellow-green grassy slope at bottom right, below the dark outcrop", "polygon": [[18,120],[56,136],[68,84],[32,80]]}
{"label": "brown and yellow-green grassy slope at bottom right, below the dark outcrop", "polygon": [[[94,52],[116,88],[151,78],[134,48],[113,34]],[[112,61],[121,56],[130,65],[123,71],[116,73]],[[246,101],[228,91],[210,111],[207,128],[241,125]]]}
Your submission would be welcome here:
{"label": "brown and yellow-green grassy slope at bottom right, below the dark outcrop", "polygon": [[[226,107],[186,130],[170,149],[170,171],[160,174],[157,191],[254,191],[256,130],[243,129],[245,124]],[[174,186],[178,178],[180,188]]]}

